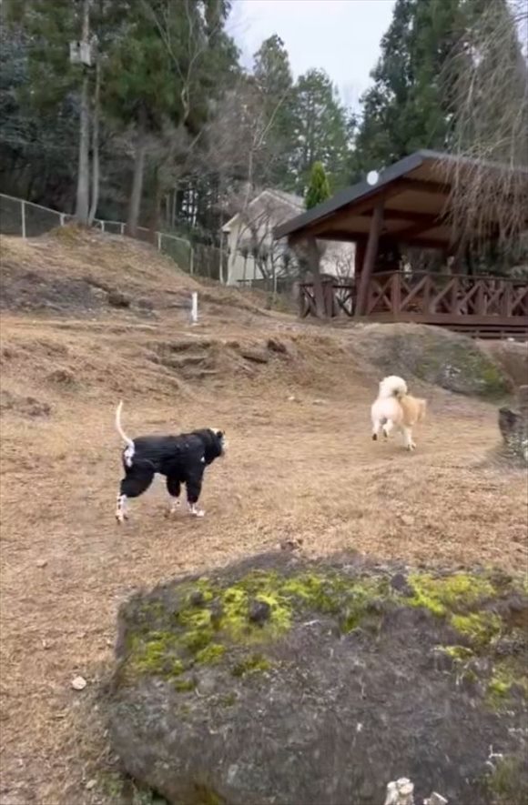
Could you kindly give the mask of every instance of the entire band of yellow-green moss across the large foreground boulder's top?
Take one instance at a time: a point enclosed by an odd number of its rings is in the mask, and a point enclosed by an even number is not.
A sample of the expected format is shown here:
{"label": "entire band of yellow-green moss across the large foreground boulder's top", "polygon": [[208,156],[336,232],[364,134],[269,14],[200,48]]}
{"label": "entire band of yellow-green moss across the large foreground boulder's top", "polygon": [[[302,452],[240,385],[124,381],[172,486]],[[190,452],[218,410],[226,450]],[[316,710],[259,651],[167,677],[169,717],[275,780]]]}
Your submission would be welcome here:
{"label": "entire band of yellow-green moss across the large foreground boulder's top", "polygon": [[[298,572],[253,569],[235,579],[201,578],[182,582],[166,596],[139,599],[127,626],[120,682],[138,677],[165,679],[174,690],[195,689],[205,666],[221,666],[234,678],[258,676],[277,665],[273,646],[297,623],[330,619],[341,635],[380,629],[391,609],[426,609],[459,635],[437,649],[452,659],[458,679],[481,681],[493,707],[518,689],[520,670],[493,662],[492,671],[475,670],[479,655],[492,656],[497,640],[512,625],[495,605],[522,584],[489,572],[438,575],[411,573],[402,595],[390,577],[350,576],[339,569],[304,567]],[[157,594],[153,594],[156,596]],[[197,678],[198,679],[198,678]],[[526,687],[528,692],[528,685]]]}

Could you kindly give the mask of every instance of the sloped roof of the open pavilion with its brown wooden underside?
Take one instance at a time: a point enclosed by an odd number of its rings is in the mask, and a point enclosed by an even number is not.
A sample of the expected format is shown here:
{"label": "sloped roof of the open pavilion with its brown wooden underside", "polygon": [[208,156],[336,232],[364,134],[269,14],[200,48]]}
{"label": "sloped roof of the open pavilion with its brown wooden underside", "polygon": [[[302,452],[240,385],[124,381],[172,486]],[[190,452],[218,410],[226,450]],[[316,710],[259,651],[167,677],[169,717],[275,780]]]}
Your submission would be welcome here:
{"label": "sloped roof of the open pavilion with its brown wooden underside", "polygon": [[[328,240],[360,240],[368,236],[374,206],[383,197],[382,236],[416,245],[442,246],[452,231],[443,216],[450,194],[446,163],[460,170],[477,163],[438,151],[421,150],[381,172],[375,185],[359,182],[328,201],[275,227],[274,236],[315,236]],[[491,169],[504,166],[489,164]],[[528,170],[521,169],[526,174]]]}

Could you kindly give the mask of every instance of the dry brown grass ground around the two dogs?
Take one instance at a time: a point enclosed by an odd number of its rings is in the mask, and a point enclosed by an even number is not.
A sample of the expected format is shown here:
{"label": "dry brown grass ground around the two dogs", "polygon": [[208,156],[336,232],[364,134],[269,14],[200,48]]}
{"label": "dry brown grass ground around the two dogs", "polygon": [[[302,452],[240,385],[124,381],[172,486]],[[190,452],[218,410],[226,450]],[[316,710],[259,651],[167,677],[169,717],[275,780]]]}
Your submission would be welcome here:
{"label": "dry brown grass ground around the two dogs", "polygon": [[[285,339],[289,359],[258,366],[234,346],[270,335]],[[193,379],[152,361],[160,344],[189,338],[218,375]],[[347,550],[506,570],[526,561],[525,478],[494,458],[495,409],[428,388],[416,453],[373,443],[378,377],[354,363],[340,333],[225,312],[192,332],[169,319],[5,317],[2,360],[14,398],[52,408],[32,418],[15,405],[1,420],[4,805],[118,801],[99,782],[113,766],[95,691],[117,607],[133,589],[288,537],[303,538],[310,556]],[[166,518],[156,483],[117,527],[121,395],[131,434],[209,422],[227,430],[228,458],[208,470],[204,520]],[[70,687],[76,674],[88,680],[80,693]]]}

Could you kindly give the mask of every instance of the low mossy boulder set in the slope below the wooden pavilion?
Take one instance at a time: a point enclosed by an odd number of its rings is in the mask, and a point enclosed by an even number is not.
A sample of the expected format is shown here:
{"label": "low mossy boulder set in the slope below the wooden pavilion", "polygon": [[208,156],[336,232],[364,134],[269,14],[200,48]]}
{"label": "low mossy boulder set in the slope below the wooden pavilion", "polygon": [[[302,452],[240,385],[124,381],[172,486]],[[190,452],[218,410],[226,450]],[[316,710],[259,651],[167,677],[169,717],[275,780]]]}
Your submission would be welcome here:
{"label": "low mossy boulder set in the slope below the wooden pavilion", "polygon": [[371,325],[362,331],[358,346],[388,374],[418,377],[459,394],[496,400],[513,387],[490,353],[472,338],[442,327]]}

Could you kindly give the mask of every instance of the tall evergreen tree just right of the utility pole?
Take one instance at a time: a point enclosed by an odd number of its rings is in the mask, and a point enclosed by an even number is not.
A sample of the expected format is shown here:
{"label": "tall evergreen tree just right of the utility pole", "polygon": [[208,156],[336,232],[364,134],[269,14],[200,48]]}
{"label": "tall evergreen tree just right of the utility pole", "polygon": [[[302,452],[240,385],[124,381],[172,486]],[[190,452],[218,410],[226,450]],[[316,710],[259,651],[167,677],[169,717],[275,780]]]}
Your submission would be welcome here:
{"label": "tall evergreen tree just right of the utility pole", "polygon": [[107,108],[133,138],[127,216],[131,233],[137,228],[149,155],[154,155],[156,221],[166,189],[161,181],[162,157],[172,152],[174,136],[182,130],[192,138],[199,135],[211,102],[225,88],[236,64],[237,50],[223,30],[228,10],[225,0],[168,5],[145,0],[132,18],[127,37],[119,40],[113,52]]}

